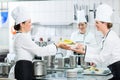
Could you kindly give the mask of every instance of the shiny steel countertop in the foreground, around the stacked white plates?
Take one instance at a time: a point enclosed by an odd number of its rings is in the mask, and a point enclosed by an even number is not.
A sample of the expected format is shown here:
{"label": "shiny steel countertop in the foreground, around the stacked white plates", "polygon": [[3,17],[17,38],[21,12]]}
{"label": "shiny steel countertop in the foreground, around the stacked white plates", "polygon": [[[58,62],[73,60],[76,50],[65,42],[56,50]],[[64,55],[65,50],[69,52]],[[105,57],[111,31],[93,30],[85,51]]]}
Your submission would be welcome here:
{"label": "shiny steel countertop in the foreground, around the stacked white plates", "polygon": [[35,80],[108,80],[111,78],[112,75],[107,76],[97,76],[97,75],[83,75],[81,73],[78,73],[78,76],[75,78],[67,78],[66,72],[56,72],[49,74],[43,78],[37,78]]}

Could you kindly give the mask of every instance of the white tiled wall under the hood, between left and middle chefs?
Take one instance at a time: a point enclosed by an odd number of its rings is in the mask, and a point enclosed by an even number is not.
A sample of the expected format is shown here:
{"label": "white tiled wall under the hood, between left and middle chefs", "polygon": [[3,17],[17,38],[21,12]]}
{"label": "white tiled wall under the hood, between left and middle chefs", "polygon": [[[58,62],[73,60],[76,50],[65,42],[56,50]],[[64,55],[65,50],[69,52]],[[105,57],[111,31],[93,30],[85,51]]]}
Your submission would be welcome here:
{"label": "white tiled wall under the hood, between left and middle chefs", "polygon": [[35,32],[33,36],[35,36],[35,40],[39,40],[40,37],[43,37],[46,41],[47,38],[51,37],[53,41],[57,42],[60,38],[62,39],[70,39],[70,36],[73,31],[77,29],[74,24],[72,25],[47,25],[47,26],[36,26],[37,31]]}

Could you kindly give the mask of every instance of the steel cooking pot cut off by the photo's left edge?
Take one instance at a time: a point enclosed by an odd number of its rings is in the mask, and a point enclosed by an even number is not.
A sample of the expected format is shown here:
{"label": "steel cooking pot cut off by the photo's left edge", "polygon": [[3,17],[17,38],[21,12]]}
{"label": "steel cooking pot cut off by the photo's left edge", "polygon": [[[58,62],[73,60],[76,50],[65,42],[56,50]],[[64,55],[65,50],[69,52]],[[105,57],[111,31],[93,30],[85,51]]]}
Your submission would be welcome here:
{"label": "steel cooking pot cut off by the photo's left edge", "polygon": [[0,75],[8,75],[10,71],[11,65],[9,63],[0,63]]}

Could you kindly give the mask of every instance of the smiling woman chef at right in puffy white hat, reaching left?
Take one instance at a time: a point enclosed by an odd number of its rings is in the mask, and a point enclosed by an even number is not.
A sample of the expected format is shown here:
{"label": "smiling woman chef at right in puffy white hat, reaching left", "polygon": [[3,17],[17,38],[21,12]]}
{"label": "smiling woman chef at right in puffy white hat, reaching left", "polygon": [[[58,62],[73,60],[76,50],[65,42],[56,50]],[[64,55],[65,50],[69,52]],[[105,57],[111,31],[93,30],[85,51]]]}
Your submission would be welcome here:
{"label": "smiling woman chef at right in puffy white hat, reaching left", "polygon": [[86,61],[107,66],[113,74],[113,78],[109,80],[120,80],[120,38],[111,30],[112,13],[112,8],[107,4],[102,4],[97,8],[95,25],[97,30],[104,35],[100,49],[79,44],[72,50],[85,54]]}

